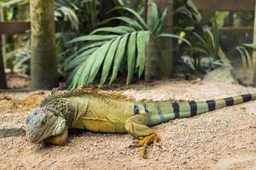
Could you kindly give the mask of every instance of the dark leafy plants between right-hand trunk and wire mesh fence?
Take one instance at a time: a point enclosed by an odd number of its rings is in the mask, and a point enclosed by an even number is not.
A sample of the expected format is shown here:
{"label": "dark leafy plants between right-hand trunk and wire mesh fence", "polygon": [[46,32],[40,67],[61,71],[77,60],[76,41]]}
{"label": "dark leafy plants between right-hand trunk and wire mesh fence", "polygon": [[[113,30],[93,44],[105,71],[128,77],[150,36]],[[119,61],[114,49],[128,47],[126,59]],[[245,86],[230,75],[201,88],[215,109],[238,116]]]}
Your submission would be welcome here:
{"label": "dark leafy plants between right-hand trunk and wire mesh fence", "polygon": [[[201,25],[201,14],[192,1],[175,1],[174,31],[181,33],[191,42],[191,47],[177,48],[177,59],[183,72],[189,77],[198,77],[212,71],[218,65],[223,65],[218,55],[220,48],[219,32],[216,20],[209,20],[212,29]],[[191,30],[191,28],[194,28]]]}

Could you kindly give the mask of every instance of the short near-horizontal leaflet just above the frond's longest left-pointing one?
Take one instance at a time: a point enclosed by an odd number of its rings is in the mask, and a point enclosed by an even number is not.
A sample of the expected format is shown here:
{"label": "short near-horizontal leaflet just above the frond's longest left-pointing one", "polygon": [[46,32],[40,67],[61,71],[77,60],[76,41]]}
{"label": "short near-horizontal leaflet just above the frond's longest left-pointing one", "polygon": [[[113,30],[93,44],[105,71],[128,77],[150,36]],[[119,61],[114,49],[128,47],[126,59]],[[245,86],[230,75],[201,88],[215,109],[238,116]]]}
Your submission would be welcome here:
{"label": "short near-horizontal leaflet just above the frond's longest left-pointing one", "polygon": [[132,29],[131,27],[128,27],[128,26],[115,26],[115,27],[98,28],[95,31],[92,31],[90,34],[95,34],[98,32],[112,32],[112,33],[116,33],[116,34],[126,34],[131,31],[134,31],[134,29]]}

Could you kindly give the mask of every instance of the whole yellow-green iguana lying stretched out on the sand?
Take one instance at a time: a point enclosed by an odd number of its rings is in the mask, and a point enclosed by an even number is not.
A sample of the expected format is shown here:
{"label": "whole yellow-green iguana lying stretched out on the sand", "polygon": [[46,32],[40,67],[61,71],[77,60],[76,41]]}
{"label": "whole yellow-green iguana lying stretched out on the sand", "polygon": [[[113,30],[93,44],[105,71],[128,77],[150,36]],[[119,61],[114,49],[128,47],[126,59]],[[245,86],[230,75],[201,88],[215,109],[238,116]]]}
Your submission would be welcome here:
{"label": "whole yellow-green iguana lying stretched out on the sand", "polygon": [[98,88],[54,90],[26,118],[26,139],[32,143],[67,142],[67,128],[82,128],[96,133],[130,133],[133,146],[142,147],[146,156],[148,144],[160,144],[151,126],[175,118],[200,115],[225,106],[256,99],[245,94],[207,101],[136,101],[118,92]]}

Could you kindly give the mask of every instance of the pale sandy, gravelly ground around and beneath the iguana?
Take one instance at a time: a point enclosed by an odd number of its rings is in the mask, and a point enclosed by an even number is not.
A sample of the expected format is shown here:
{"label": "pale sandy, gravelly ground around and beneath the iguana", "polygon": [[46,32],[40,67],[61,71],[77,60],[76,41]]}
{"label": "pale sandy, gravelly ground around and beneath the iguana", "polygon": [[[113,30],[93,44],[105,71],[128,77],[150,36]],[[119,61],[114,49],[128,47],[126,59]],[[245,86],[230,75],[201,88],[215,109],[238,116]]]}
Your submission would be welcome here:
{"label": "pale sandy, gravelly ground around and beneath the iguana", "polygon": [[[119,89],[137,99],[218,99],[256,88],[221,82],[191,84],[162,81]],[[46,94],[49,92],[46,92]],[[24,93],[2,93],[0,125],[20,125],[42,98],[20,102]],[[45,95],[45,94],[44,94]],[[1,99],[1,94],[0,94]],[[22,101],[22,100],[21,100]],[[154,128],[161,148],[150,146],[148,159],[131,148],[129,134],[72,133],[65,146],[30,144],[24,137],[0,139],[0,169],[256,169],[256,101],[201,116],[177,119]]]}

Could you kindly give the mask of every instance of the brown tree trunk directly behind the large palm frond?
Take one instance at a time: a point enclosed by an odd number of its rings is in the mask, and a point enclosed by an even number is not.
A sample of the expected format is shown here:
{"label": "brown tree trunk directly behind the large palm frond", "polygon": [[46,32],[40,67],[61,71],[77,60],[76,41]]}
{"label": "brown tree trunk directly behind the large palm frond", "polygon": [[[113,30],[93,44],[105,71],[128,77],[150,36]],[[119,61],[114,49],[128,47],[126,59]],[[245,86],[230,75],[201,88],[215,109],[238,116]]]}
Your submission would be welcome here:
{"label": "brown tree trunk directly behind the large palm frond", "polygon": [[[172,33],[173,26],[173,0],[148,0],[148,26],[152,19],[152,11],[149,7],[150,3],[156,3],[160,9],[160,14],[165,8],[168,8],[166,20],[162,27],[162,31]],[[171,38],[154,38],[150,37],[147,48],[147,60],[145,68],[145,79],[171,77],[173,71],[172,57],[172,39]]]}

